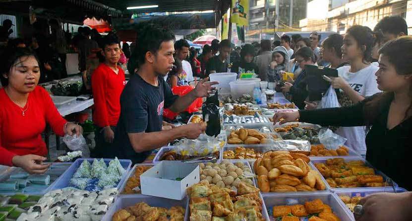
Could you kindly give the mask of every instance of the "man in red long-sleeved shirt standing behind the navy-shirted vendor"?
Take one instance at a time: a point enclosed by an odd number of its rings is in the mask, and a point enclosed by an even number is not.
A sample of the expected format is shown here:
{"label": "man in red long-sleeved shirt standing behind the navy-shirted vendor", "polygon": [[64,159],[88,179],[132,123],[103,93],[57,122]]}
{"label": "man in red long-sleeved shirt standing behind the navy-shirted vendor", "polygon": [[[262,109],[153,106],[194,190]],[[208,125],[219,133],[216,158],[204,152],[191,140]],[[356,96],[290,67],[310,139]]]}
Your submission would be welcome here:
{"label": "man in red long-sleeved shirt standing behind the navy-shirted vendor", "polygon": [[96,125],[96,147],[93,157],[100,157],[101,150],[110,147],[115,139],[116,125],[120,115],[120,94],[126,80],[123,70],[118,66],[120,44],[115,34],[109,34],[102,40],[102,55],[105,62],[92,74],[94,97],[93,122]]}

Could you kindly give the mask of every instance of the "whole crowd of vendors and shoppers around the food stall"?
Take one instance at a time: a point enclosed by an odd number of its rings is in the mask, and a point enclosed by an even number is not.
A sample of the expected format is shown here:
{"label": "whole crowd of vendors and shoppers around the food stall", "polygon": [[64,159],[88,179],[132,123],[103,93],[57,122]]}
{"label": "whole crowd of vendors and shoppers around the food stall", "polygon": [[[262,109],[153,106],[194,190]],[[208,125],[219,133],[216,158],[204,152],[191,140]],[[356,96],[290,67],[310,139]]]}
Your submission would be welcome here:
{"label": "whole crowd of vendors and shoppers around the food stall", "polygon": [[[51,79],[49,74],[61,77],[53,74],[58,66],[52,61],[62,62],[67,38],[54,21],[50,25],[52,44],[40,31],[30,46],[19,39],[9,41],[0,65],[0,164],[19,166],[30,173],[43,173],[50,166],[43,163],[48,150],[41,133],[46,124],[60,136],[82,133],[80,126],[59,115],[47,91],[38,86]],[[206,130],[205,124],[175,127],[163,121],[164,109],[178,113],[212,93],[218,82],[208,81],[209,74],[230,71],[240,77],[252,73],[280,84],[300,109],[277,113],[274,122],[283,119],[281,123],[336,126],[335,133],[348,139],[347,146],[366,154],[369,162],[400,186],[412,189],[408,170],[400,169],[411,150],[412,125],[412,38],[406,36],[403,18],[385,17],[373,31],[354,25],[344,36],[332,34],[323,41],[317,32],[309,38],[283,35],[274,44],[262,40],[236,48],[229,40],[214,40],[200,55],[186,40],[175,41],[170,30],[153,24],[139,28],[132,50],[127,44],[121,48],[114,33],[102,37],[84,27],[70,39],[79,52],[79,71],[94,96],[93,157],[117,156],[140,163],[151,150],[177,138],[197,138]],[[127,83],[121,67],[126,63],[131,74]],[[321,63],[337,69],[338,77],[325,79],[338,89],[340,108],[322,109],[323,93],[308,90],[305,66]],[[189,93],[177,96],[172,92],[194,77],[202,79]],[[410,200],[385,197],[399,206],[391,212],[409,214],[405,208]],[[376,205],[385,197],[366,197],[365,213],[372,218],[382,214]]]}

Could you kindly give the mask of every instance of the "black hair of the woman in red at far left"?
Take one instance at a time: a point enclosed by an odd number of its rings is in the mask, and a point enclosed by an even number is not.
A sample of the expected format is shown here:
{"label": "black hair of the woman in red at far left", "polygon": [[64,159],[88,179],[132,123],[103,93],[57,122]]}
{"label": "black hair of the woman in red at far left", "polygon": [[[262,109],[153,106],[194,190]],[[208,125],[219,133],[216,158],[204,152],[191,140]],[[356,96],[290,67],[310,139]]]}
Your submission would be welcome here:
{"label": "black hair of the woman in red at far left", "polygon": [[7,48],[1,56],[3,59],[0,60],[1,85],[3,85],[3,87],[8,85],[8,78],[5,78],[3,74],[8,75],[13,66],[23,62],[20,60],[21,58],[32,56],[36,59],[37,63],[40,66],[39,58],[37,57],[36,53],[30,48]]}

